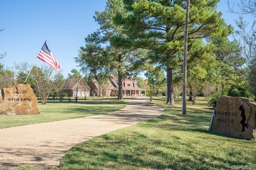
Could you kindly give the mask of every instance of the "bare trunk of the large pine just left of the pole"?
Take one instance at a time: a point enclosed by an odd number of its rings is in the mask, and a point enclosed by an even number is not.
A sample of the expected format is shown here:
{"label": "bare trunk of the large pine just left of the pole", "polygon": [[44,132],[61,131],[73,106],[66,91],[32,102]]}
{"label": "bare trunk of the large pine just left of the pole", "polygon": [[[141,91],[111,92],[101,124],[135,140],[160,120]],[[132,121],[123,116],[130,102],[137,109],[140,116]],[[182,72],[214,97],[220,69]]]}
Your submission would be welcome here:
{"label": "bare trunk of the large pine just left of the pole", "polygon": [[167,66],[167,102],[168,105],[175,105],[172,83],[172,68]]}

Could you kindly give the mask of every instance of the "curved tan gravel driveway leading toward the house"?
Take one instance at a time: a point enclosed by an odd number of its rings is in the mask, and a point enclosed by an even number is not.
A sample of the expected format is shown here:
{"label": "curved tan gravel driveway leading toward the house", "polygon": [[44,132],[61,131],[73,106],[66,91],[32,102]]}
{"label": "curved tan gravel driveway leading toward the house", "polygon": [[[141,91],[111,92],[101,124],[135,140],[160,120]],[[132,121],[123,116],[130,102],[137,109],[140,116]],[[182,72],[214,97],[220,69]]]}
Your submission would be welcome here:
{"label": "curved tan gravel driveway leading toward the house", "polygon": [[103,115],[0,129],[0,168],[58,166],[72,146],[164,113],[147,100],[130,100],[124,109]]}

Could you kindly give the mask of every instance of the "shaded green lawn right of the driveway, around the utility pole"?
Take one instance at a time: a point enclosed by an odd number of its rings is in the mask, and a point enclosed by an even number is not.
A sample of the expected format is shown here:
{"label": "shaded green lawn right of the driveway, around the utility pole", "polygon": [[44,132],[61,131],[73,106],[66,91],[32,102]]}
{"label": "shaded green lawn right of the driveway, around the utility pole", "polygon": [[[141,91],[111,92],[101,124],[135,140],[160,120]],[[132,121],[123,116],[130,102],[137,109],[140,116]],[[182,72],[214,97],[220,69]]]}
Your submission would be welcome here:
{"label": "shaded green lawn right of the driveway, around the utility pole", "polygon": [[[209,132],[212,109],[201,98],[195,105],[187,102],[187,115],[180,98],[175,106],[165,102],[152,102],[164,108],[163,115],[80,143],[51,169],[256,169],[256,142]],[[44,169],[18,169],[28,168]]]}

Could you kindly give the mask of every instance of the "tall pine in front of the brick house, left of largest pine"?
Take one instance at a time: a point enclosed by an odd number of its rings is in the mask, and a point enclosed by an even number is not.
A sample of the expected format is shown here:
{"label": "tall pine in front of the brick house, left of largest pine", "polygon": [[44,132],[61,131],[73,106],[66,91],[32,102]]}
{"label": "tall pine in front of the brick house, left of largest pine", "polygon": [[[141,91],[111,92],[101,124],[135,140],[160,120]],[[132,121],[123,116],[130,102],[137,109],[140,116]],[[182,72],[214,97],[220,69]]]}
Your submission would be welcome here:
{"label": "tall pine in front of the brick house, left of largest pine", "polygon": [[[87,55],[92,57],[92,60],[88,59],[90,60],[90,67],[94,66],[94,68],[102,70],[100,67],[103,66],[117,71],[118,99],[120,100],[123,98],[122,78],[128,74],[136,57],[143,54],[141,51],[128,48],[129,42],[123,38],[126,35],[122,32],[122,27],[113,22],[116,13],[123,16],[127,15],[128,11],[123,6],[122,0],[108,0],[105,10],[103,12],[96,12],[94,20],[100,25],[100,29],[88,35],[85,39],[86,47],[81,47],[80,57],[76,58],[76,62],[80,63],[82,70],[88,67],[85,57]],[[118,37],[118,45],[116,44],[116,37]],[[110,39],[112,39],[111,44]],[[120,42],[122,45],[120,45]]]}

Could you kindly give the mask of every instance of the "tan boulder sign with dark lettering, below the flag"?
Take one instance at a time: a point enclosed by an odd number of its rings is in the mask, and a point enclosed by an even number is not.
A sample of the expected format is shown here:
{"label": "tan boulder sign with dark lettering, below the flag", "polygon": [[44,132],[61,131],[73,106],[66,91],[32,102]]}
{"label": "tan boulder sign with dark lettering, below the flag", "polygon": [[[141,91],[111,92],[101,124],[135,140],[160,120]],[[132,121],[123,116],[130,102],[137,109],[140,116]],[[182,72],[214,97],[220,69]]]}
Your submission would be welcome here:
{"label": "tan boulder sign with dark lettering, below the flag", "polygon": [[38,100],[28,84],[1,89],[0,114],[37,115],[40,113],[37,104]]}

